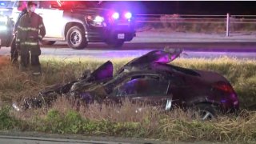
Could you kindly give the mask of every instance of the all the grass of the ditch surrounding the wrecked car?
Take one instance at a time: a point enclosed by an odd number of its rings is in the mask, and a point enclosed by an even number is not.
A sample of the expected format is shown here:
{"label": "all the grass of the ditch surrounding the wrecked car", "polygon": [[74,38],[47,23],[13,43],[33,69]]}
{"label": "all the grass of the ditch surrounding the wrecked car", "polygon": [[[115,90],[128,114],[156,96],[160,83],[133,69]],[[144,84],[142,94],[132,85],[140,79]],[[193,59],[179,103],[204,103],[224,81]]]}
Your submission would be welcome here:
{"label": "all the grass of the ditch surrounding the wrecked car", "polygon": [[[131,58],[114,59],[114,72]],[[256,113],[243,110],[238,117],[220,116],[212,122],[192,120],[190,112],[174,110],[170,113],[146,107],[135,113],[129,102],[122,108],[76,106],[59,98],[49,109],[17,113],[6,104],[35,96],[38,91],[57,83],[78,78],[83,70],[94,70],[102,60],[89,58],[43,58],[43,74],[32,77],[10,66],[8,58],[0,57],[0,129],[36,130],[60,134],[110,135],[134,138],[163,138],[182,141],[255,141]],[[256,102],[256,61],[236,58],[177,59],[176,66],[199,70],[214,70],[228,78],[237,91],[243,107]]]}

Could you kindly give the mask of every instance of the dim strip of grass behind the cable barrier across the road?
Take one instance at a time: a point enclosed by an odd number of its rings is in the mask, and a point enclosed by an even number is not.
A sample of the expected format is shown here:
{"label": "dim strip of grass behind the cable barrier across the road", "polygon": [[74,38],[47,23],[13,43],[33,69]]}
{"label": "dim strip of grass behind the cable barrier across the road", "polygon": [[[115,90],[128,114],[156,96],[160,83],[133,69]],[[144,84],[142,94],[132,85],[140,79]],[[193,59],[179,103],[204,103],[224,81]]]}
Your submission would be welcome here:
{"label": "dim strip of grass behind the cable barrier across the road", "polygon": [[[198,21],[198,20],[197,20]],[[139,22],[137,23],[137,31],[157,31],[157,32],[186,32],[186,33],[206,33],[206,34],[225,34],[226,22],[220,23],[204,22]],[[236,23],[236,22],[248,22],[248,23]],[[255,32],[256,25],[247,21],[239,21],[234,19],[230,22],[230,33],[238,32]]]}

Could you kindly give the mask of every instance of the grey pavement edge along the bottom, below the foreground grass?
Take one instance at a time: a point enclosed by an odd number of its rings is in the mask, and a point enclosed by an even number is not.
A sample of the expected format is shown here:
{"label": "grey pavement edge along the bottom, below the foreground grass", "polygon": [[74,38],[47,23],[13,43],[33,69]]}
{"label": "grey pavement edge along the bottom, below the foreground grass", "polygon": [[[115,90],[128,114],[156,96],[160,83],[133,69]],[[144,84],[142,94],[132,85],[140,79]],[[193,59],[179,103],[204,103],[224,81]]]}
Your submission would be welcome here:
{"label": "grey pavement edge along the bottom, below the foreground grass", "polygon": [[114,137],[94,137],[81,134],[42,134],[37,132],[1,132],[1,144],[222,144],[222,142],[171,142],[147,138],[114,138]]}

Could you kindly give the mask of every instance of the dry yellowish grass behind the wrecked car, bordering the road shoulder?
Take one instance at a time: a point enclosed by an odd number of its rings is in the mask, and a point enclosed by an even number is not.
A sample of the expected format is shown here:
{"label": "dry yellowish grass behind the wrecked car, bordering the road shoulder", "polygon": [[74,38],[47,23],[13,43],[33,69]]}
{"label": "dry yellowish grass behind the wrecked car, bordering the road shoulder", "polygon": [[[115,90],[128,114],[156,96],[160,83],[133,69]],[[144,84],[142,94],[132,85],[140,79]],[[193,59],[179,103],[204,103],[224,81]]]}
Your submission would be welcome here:
{"label": "dry yellowish grass behind the wrecked car, bordering the road shoulder", "polygon": [[[114,73],[132,58],[112,60]],[[49,58],[42,57],[43,73],[39,77],[30,72],[21,73],[17,66],[10,66],[7,58],[1,58],[0,94],[2,101],[18,100],[35,96],[38,90],[54,84],[63,84],[78,78],[84,70],[95,70],[106,60],[89,58]],[[198,70],[213,70],[226,77],[238,93],[241,106],[256,103],[256,61],[236,58],[178,58],[172,64]]]}

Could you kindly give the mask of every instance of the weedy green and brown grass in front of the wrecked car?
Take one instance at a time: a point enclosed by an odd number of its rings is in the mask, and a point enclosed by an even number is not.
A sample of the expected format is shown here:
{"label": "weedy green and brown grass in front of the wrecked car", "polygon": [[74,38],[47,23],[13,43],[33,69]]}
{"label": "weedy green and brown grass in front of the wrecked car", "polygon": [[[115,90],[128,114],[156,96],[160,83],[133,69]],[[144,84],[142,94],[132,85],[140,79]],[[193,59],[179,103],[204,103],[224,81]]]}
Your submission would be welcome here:
{"label": "weedy green and brown grass in front of the wrecked car", "polygon": [[[142,108],[142,111],[136,113],[138,108]],[[66,98],[58,98],[50,110],[28,110],[10,115],[21,121],[13,124],[18,130],[160,138],[171,141],[256,140],[256,113],[246,110],[238,114],[238,117],[219,116],[212,121],[202,122],[199,118],[192,119],[190,111],[181,109],[163,112],[158,108],[138,106],[130,102],[125,102],[119,108],[97,103],[78,107]]]}

